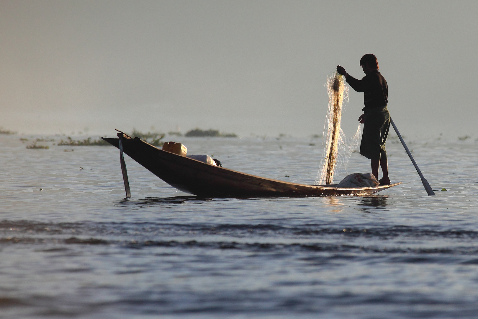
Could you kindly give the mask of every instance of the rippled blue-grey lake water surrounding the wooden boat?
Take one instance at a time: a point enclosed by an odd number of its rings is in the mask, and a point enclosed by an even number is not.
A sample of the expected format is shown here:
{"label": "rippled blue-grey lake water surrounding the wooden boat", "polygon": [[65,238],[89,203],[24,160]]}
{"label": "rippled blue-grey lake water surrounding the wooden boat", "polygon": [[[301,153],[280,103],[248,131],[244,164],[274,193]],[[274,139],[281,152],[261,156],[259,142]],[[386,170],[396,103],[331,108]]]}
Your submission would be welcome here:
{"label": "rippled blue-grey lake water surrounding the wooden boat", "polygon": [[[0,135],[2,319],[478,317],[473,139],[405,139],[437,196],[389,141],[403,184],[374,196],[205,200],[128,156],[125,199],[118,149],[21,137]],[[322,154],[311,138],[167,140],[304,184]],[[353,153],[348,173],[369,171]]]}

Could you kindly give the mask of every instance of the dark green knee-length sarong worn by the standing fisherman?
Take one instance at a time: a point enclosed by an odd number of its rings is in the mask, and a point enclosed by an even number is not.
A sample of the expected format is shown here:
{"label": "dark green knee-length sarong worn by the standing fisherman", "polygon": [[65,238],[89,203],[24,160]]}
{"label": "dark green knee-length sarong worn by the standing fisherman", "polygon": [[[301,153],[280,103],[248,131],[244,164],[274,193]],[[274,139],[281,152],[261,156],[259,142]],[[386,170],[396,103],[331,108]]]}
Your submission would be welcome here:
{"label": "dark green knee-length sarong worn by the standing fisherman", "polygon": [[360,154],[373,160],[387,159],[385,141],[390,128],[387,106],[363,108],[365,113]]}

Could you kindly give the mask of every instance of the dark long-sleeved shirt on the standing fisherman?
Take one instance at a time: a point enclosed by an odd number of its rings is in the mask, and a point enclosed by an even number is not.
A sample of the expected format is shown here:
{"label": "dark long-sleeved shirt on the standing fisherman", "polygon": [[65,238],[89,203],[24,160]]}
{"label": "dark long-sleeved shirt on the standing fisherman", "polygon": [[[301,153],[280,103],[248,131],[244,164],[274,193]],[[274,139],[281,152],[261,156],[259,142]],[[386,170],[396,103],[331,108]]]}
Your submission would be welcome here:
{"label": "dark long-sleeved shirt on the standing fisherman", "polygon": [[357,92],[365,93],[363,103],[366,109],[387,106],[387,81],[382,77],[379,70],[370,72],[361,80],[349,75],[346,81]]}

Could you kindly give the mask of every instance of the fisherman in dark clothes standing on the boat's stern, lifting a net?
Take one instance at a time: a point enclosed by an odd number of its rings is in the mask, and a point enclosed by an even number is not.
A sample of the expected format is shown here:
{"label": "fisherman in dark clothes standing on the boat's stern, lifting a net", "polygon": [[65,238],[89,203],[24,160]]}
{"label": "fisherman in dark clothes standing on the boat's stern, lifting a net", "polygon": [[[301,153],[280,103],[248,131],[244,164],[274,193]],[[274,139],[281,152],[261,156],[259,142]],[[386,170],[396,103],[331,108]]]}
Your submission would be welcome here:
{"label": "fisherman in dark clothes standing on the boat's stern, lifting a net", "polygon": [[385,151],[385,141],[390,128],[387,81],[379,72],[379,63],[375,55],[362,56],[360,66],[365,73],[365,77],[361,80],[350,76],[342,66],[337,66],[337,72],[345,76],[347,83],[354,90],[364,92],[365,107],[362,109],[364,113],[359,117],[359,122],[364,124],[360,154],[370,159],[372,174],[376,178],[378,178],[380,165],[383,175],[379,180],[380,185],[389,185],[387,152]]}

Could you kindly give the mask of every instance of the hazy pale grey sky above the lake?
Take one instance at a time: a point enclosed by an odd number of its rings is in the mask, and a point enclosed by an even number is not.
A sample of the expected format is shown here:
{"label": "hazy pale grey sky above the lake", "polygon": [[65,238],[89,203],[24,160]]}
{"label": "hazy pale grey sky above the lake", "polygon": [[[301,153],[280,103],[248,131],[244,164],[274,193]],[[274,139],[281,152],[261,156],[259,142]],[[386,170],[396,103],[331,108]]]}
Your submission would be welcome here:
{"label": "hazy pale grey sky above the lake", "polygon": [[[477,137],[478,1],[0,0],[0,126],[322,133],[326,76],[377,56],[408,136]],[[355,132],[363,93],[343,115]]]}

